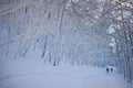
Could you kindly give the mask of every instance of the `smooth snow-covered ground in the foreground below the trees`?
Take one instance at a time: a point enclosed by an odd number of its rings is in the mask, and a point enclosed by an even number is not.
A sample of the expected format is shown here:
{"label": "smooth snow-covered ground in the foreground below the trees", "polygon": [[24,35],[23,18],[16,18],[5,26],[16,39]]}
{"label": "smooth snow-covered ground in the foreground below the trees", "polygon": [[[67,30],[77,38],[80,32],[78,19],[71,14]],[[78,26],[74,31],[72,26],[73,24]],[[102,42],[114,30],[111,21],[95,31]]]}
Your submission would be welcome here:
{"label": "smooth snow-covered ground in the foreground below the trees", "polygon": [[52,66],[40,58],[0,59],[0,88],[127,88],[116,69]]}

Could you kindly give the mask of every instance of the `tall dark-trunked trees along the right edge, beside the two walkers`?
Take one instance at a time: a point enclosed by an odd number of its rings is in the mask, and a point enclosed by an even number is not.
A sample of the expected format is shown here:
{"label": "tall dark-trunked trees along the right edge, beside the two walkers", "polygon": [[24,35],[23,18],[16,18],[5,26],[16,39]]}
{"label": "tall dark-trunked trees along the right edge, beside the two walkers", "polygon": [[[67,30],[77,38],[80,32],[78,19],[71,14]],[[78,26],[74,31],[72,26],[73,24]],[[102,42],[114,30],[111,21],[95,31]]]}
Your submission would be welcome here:
{"label": "tall dark-trunked trees along the right edge, beside the two walkers", "polygon": [[105,10],[114,32],[113,54],[119,73],[124,75],[127,82],[133,80],[133,1],[108,0]]}

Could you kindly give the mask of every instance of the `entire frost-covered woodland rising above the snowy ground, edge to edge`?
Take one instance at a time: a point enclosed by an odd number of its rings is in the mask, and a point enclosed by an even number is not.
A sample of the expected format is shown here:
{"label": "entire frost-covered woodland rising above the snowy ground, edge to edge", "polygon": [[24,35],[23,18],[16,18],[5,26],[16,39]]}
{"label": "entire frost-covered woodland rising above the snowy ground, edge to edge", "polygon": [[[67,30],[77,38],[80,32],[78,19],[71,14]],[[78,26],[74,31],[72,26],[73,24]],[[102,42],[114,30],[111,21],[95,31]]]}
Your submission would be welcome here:
{"label": "entire frost-covered woodland rising above the snowy ground, edge to edge", "polygon": [[3,4],[10,4],[0,12],[0,48],[6,55],[14,45],[13,59],[40,47],[44,62],[54,66],[62,56],[72,65],[105,66],[114,61],[132,82],[132,0],[3,0]]}

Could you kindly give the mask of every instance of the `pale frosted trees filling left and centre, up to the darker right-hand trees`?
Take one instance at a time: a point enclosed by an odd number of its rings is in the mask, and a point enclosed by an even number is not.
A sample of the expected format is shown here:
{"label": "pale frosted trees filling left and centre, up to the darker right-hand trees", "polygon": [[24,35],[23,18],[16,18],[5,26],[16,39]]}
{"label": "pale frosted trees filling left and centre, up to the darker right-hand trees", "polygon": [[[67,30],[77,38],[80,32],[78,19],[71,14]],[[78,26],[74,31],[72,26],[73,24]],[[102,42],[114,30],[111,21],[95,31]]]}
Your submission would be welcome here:
{"label": "pale frosted trees filling left and centre, up to the darker right-hand trees", "polygon": [[53,65],[104,66],[111,54],[102,7],[100,0],[10,0],[0,12],[0,54],[17,59],[41,50]]}

